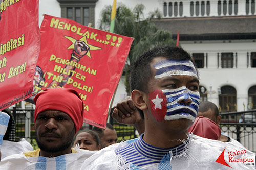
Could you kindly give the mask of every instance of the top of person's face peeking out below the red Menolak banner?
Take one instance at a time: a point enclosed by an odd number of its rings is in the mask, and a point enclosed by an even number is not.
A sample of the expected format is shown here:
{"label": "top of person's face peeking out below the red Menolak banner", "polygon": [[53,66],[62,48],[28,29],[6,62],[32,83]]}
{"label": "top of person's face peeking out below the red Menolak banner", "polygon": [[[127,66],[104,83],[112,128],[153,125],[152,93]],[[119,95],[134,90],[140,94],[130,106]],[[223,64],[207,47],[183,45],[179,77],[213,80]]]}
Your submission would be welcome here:
{"label": "top of person's face peeking out below the red Menolak banner", "polygon": [[73,148],[78,145],[83,150],[100,150],[101,145],[99,142],[99,136],[96,132],[92,130],[79,130],[74,137]]}

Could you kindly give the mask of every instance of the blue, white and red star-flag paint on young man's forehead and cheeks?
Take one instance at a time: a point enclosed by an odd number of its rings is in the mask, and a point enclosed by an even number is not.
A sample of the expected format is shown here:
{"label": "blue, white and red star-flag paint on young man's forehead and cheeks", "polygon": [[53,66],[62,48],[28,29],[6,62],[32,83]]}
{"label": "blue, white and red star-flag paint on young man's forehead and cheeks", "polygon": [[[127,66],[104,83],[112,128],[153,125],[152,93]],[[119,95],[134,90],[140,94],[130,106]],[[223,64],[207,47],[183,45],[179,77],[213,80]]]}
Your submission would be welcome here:
{"label": "blue, white and red star-flag paint on young man's forehead and cheeks", "polygon": [[[190,60],[163,60],[154,65],[155,79],[172,76],[196,77],[197,71]],[[199,109],[199,91],[182,86],[176,89],[156,89],[150,93],[151,113],[158,120],[186,118],[195,121]]]}

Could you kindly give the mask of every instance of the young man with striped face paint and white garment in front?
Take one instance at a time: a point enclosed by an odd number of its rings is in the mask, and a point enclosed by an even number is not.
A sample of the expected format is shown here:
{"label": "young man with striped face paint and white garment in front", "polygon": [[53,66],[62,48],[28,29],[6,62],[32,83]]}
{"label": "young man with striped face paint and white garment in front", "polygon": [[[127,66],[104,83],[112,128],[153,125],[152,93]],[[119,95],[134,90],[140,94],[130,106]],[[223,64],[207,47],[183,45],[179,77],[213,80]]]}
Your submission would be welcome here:
{"label": "young man with striped face paint and white garment in front", "polygon": [[[230,168],[216,160],[224,149],[227,154],[241,148],[187,132],[197,117],[200,96],[198,71],[186,51],[167,46],[144,53],[133,64],[130,83],[133,102],[144,115],[145,132],[94,154],[82,169]],[[255,162],[254,153],[243,156]],[[230,166],[245,168],[241,162]]]}

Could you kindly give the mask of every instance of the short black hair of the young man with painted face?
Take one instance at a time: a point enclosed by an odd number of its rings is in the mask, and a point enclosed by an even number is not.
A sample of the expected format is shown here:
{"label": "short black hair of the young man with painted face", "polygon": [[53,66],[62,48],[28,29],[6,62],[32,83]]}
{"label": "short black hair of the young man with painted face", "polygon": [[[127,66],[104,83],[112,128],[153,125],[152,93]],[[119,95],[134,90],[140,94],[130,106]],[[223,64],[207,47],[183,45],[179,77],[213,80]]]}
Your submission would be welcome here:
{"label": "short black hair of the young man with painted face", "polygon": [[[190,60],[197,69],[193,58],[191,58],[191,56],[182,48],[173,46],[155,47],[142,54],[133,63],[130,72],[131,91],[137,89],[143,92],[148,92],[148,81],[152,78],[150,63],[156,57],[164,57],[172,60]],[[142,110],[138,110],[141,117],[144,118]]]}

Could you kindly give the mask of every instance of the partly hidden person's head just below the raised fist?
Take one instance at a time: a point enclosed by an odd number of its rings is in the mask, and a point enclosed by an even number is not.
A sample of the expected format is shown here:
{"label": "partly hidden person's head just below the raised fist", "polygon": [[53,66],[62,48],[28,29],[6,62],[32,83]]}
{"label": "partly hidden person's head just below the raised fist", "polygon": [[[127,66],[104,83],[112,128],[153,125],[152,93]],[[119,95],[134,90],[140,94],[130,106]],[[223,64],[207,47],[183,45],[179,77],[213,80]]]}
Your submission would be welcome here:
{"label": "partly hidden person's head just below the raised fist", "polygon": [[109,145],[117,142],[116,130],[110,123],[106,123],[106,129],[93,127],[92,130],[98,133],[102,148],[108,147]]}

